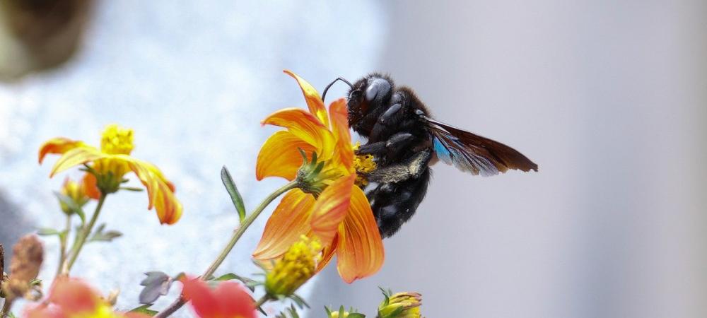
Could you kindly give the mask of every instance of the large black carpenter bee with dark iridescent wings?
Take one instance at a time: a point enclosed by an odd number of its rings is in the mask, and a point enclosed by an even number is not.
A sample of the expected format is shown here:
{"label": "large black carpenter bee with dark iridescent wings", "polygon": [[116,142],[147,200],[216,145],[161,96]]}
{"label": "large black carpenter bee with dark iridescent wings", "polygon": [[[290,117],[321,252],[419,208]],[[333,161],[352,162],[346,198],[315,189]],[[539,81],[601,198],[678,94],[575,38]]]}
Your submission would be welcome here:
{"label": "large black carpenter bee with dark iridescent wings", "polygon": [[370,154],[377,168],[365,175],[378,230],[390,237],[415,213],[427,192],[430,166],[438,160],[472,175],[491,176],[509,169],[537,171],[537,165],[509,146],[438,122],[407,87],[372,73],[351,84],[344,81],[349,127],[367,139],[357,154]]}

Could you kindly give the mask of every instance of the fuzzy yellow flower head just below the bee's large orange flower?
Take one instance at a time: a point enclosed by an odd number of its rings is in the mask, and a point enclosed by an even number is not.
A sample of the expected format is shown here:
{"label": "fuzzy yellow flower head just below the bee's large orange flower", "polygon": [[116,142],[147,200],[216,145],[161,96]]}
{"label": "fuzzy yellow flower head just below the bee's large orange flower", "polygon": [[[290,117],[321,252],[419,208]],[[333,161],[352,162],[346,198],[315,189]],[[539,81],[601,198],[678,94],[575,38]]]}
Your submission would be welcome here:
{"label": "fuzzy yellow flower head just below the bee's large orange flower", "polygon": [[292,295],[314,276],[321,259],[322,245],[319,240],[302,235],[266,274],[265,291],[274,298]]}

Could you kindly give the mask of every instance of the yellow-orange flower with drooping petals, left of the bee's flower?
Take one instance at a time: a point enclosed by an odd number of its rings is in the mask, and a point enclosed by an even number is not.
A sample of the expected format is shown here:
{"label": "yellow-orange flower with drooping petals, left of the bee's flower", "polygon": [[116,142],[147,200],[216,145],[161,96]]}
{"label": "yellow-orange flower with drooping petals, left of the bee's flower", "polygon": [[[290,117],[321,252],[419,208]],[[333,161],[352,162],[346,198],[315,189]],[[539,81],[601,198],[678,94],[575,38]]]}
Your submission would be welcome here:
{"label": "yellow-orange flower with drooping petals, left of the bee's flower", "polygon": [[58,153],[49,177],[76,165],[86,164],[96,177],[96,184],[103,195],[117,192],[127,172],[134,172],[148,193],[148,209],[154,208],[160,223],[174,224],[182,216],[182,204],[175,197],[174,185],[168,181],[158,167],[130,156],[133,145],[132,129],[110,124],[103,131],[100,150],[83,141],[66,138],[50,139],[40,147],[39,162],[47,153]]}

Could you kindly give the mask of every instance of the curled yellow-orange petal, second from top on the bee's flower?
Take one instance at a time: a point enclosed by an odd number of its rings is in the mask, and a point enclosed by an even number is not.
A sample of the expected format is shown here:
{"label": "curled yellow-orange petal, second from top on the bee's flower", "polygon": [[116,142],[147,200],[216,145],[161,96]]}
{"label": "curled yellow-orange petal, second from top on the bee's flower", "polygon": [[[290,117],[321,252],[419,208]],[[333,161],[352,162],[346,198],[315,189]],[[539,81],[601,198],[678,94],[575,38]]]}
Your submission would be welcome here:
{"label": "curled yellow-orange petal, second from top on the bee's flower", "polygon": [[314,146],[322,160],[334,150],[334,136],[317,117],[300,108],[285,108],[263,119],[263,124],[285,127],[293,135]]}

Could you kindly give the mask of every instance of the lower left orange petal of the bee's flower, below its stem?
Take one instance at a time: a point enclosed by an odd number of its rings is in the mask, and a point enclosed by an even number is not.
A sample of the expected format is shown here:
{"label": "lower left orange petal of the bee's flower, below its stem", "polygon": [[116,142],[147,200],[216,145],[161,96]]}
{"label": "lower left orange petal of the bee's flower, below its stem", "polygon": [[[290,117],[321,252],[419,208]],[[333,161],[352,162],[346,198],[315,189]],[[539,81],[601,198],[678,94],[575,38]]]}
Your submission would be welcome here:
{"label": "lower left orange petal of the bee's flower, below its stem", "polygon": [[300,189],[287,192],[267,220],[263,236],[253,252],[254,259],[275,259],[287,252],[300,235],[310,232],[315,199]]}

